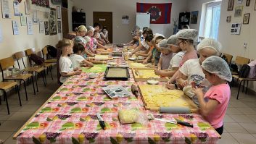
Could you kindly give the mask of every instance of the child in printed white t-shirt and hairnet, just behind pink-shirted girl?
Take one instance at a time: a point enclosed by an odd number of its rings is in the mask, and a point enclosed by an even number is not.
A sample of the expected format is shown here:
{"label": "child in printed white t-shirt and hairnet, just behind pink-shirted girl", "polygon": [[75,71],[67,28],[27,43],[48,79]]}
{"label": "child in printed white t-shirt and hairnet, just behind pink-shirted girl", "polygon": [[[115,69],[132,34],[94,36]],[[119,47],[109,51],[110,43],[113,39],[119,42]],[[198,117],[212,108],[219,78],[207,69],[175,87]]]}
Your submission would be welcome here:
{"label": "child in printed white t-shirt and hairnet, just behind pink-shirted girl", "polygon": [[221,45],[218,41],[212,38],[205,38],[197,45],[199,59],[189,59],[178,69],[177,84],[186,96],[189,96],[198,106],[199,101],[197,96],[191,91],[191,82],[197,86],[204,87],[205,90],[209,88],[210,83],[205,80],[205,74],[202,71],[201,64],[207,57],[219,56],[220,49]]}

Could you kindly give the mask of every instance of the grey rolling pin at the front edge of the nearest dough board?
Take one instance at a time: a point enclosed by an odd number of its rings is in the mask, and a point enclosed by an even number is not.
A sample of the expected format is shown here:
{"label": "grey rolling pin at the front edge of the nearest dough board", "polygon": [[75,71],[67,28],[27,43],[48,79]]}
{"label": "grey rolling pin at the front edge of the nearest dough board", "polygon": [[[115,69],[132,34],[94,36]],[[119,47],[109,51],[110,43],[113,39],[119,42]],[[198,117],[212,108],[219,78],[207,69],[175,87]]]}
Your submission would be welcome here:
{"label": "grey rolling pin at the front edge of the nearest dough board", "polygon": [[166,113],[166,114],[190,114],[191,113],[191,110],[189,109],[189,107],[182,107],[182,106],[176,106],[176,107],[160,106],[160,107],[152,107],[150,110],[160,111],[160,113]]}

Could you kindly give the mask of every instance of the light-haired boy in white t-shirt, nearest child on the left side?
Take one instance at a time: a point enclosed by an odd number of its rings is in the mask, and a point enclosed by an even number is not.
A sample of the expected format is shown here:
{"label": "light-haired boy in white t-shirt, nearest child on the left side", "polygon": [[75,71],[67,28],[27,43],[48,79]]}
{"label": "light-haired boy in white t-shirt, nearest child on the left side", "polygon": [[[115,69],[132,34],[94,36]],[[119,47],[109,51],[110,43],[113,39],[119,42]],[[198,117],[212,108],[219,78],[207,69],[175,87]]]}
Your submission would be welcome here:
{"label": "light-haired boy in white t-shirt, nearest child on the left side", "polygon": [[56,47],[62,51],[62,55],[59,58],[59,73],[61,75],[59,81],[62,84],[68,79],[68,77],[80,75],[82,71],[77,68],[73,69],[72,62],[68,56],[73,53],[73,41],[63,39],[57,43]]}

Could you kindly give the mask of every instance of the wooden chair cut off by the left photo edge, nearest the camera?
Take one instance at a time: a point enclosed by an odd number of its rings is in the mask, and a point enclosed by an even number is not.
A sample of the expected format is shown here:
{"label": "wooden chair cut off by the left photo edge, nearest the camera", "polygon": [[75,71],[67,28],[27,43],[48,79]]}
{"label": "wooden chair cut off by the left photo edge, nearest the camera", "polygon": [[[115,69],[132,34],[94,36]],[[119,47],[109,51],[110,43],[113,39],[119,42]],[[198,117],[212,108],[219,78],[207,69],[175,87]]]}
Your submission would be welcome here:
{"label": "wooden chair cut off by the left photo edge, nearest the camera", "polygon": [[[9,88],[14,87],[14,86],[15,86],[15,89],[16,89],[16,91],[18,93],[18,96],[19,96],[20,106],[22,106],[22,103],[21,103],[21,100],[20,100],[20,90],[17,86],[17,82],[0,82],[0,90],[3,90],[3,92],[4,92],[4,100],[7,103],[8,114],[9,114],[9,105],[8,105],[8,99],[7,99],[7,90]],[[1,99],[0,99],[0,104],[1,104]]]}

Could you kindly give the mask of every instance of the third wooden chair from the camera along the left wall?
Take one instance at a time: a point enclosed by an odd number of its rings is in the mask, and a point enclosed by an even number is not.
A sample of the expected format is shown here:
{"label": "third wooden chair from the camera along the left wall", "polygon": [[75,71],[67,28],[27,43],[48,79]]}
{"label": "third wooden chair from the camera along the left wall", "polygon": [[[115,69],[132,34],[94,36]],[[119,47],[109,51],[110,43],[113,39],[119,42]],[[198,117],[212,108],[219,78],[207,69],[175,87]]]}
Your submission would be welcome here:
{"label": "third wooden chair from the camera along the left wall", "polygon": [[[19,51],[17,53],[15,53],[15,59],[17,60],[17,64],[20,68],[20,62],[19,60],[21,59],[22,60],[22,64],[23,64],[23,67],[24,69],[22,69],[23,72],[30,72],[32,73],[33,75],[35,75],[35,80],[36,80],[36,90],[38,91],[38,85],[37,85],[37,77],[36,75],[38,74],[41,74],[41,77],[44,81],[44,78],[45,78],[45,71],[44,71],[44,67],[26,67],[25,66],[25,63],[24,63],[24,60],[23,60],[23,57],[26,57],[25,55],[25,52],[24,51]],[[44,81],[44,86],[46,86],[46,82]]]}

